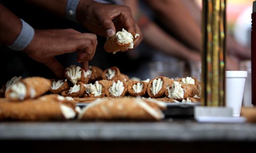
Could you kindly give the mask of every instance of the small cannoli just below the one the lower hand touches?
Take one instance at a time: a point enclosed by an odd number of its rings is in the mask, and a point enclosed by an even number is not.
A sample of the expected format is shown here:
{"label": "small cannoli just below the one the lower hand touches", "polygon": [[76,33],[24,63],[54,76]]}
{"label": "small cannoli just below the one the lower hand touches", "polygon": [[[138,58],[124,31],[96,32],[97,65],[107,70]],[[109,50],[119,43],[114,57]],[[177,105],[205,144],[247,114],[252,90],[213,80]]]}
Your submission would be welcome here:
{"label": "small cannoli just below the one the lower hand touches", "polygon": [[82,82],[78,82],[73,87],[70,87],[69,90],[62,92],[64,97],[82,97],[85,92],[85,87]]}

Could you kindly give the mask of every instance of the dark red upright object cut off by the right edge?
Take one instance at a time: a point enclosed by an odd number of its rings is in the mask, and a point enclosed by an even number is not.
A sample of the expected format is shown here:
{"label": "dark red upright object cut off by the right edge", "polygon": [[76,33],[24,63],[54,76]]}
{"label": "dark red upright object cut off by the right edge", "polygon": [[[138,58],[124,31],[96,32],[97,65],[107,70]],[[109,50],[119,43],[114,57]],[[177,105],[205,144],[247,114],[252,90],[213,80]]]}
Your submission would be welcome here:
{"label": "dark red upright object cut off by the right edge", "polygon": [[251,100],[256,105],[256,12],[251,19]]}

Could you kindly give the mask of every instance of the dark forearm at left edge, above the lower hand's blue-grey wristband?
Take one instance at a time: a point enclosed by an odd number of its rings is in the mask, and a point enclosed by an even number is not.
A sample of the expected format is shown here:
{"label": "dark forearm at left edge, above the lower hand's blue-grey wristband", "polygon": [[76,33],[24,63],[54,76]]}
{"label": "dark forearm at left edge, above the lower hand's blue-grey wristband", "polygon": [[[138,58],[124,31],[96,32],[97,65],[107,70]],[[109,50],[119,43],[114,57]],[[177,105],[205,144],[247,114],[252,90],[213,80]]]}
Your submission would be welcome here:
{"label": "dark forearm at left edge, above the lower hand's blue-grey wristband", "polygon": [[12,44],[20,32],[20,19],[0,3],[0,44]]}

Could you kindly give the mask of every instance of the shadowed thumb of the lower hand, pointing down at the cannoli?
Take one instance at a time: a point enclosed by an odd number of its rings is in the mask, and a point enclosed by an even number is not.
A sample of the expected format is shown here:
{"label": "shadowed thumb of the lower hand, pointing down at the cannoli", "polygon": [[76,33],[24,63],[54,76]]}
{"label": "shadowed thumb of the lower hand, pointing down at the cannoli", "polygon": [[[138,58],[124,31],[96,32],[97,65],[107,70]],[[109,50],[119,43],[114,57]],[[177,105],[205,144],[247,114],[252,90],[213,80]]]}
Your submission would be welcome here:
{"label": "shadowed thumb of the lower hand, pointing down at the cannoli", "polygon": [[44,63],[47,67],[52,70],[52,72],[58,77],[58,78],[63,78],[64,74],[64,67],[59,63],[59,61],[55,58],[52,57],[47,63]]}

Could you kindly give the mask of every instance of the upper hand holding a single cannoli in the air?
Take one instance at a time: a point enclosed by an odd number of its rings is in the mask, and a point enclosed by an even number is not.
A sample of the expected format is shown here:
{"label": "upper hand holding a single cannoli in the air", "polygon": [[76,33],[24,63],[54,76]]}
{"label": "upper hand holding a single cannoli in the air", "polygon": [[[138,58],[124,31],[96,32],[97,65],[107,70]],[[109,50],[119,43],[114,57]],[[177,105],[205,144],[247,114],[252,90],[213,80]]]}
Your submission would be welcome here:
{"label": "upper hand holding a single cannoli in the air", "polygon": [[122,28],[128,32],[135,32],[140,35],[134,42],[135,47],[143,39],[130,7],[127,6],[81,0],[77,8],[77,19],[85,28],[104,37],[111,37]]}

